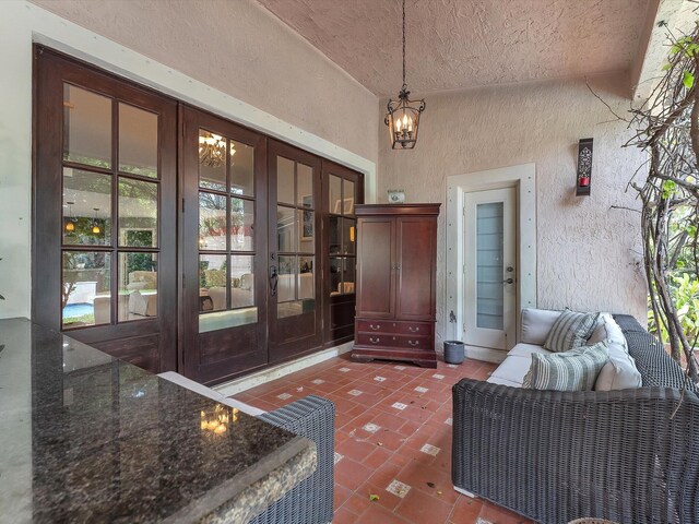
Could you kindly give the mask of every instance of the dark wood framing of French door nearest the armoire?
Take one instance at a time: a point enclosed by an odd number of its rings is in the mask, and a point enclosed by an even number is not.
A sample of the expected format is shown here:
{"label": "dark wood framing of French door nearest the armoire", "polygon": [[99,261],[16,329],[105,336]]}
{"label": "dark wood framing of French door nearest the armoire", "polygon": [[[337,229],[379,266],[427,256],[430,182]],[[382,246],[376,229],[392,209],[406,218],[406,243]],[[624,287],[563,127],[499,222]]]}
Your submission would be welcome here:
{"label": "dark wood framing of French door nearest the armoire", "polygon": [[[348,167],[341,166],[331,160],[322,159],[322,174],[321,174],[321,192],[322,192],[322,257],[325,261],[325,267],[323,269],[323,297],[325,298],[325,306],[323,309],[323,347],[334,347],[339,344],[344,344],[346,342],[351,342],[354,340],[354,320],[351,324],[348,324],[350,333],[346,336],[341,336],[337,338],[333,338],[332,336],[332,310],[342,309],[345,310],[347,308],[352,308],[353,319],[354,312],[357,305],[357,267],[355,266],[355,293],[347,295],[335,295],[331,296],[331,287],[330,287],[330,175],[334,175],[340,177],[343,180],[351,180],[355,183],[355,205],[364,204],[364,175],[360,172],[354,171]],[[357,216],[353,215],[355,219],[355,231]],[[355,242],[355,261],[357,260],[357,247],[358,242]],[[342,258],[343,255],[340,253],[337,257]]]}

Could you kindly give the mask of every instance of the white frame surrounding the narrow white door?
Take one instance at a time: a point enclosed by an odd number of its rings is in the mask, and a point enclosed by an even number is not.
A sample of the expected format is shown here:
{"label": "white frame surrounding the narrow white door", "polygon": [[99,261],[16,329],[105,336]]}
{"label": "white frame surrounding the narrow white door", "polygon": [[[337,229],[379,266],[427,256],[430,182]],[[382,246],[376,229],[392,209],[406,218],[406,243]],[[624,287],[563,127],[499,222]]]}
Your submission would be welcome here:
{"label": "white frame surrounding the narrow white door", "polygon": [[[447,245],[445,277],[448,283],[445,293],[445,337],[461,336],[464,329],[464,194],[514,187],[517,194],[517,340],[520,342],[520,315],[522,308],[537,305],[536,284],[536,165],[487,169],[483,171],[453,175],[447,178]],[[453,313],[453,317],[452,317]],[[453,319],[453,320],[452,320]],[[455,325],[453,325],[455,324]],[[481,360],[499,362],[506,352],[466,347],[466,356]]]}

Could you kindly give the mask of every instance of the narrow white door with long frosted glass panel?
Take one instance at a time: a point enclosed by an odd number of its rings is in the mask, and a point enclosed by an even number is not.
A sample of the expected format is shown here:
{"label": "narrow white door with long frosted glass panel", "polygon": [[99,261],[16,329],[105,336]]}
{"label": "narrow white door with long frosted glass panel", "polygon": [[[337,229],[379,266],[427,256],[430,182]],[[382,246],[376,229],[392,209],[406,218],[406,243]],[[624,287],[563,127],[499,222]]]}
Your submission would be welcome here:
{"label": "narrow white door with long frosted glass panel", "polygon": [[464,195],[464,342],[509,350],[517,329],[517,192]]}

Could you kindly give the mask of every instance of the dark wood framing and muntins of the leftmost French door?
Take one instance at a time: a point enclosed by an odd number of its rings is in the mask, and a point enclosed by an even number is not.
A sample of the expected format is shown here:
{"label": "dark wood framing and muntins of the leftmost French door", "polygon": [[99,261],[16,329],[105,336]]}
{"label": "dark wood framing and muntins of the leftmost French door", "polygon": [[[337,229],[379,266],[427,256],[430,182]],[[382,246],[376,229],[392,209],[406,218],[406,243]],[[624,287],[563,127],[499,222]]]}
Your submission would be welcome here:
{"label": "dark wood framing and muntins of the leftmost French door", "polygon": [[[177,103],[171,98],[135,85],[111,73],[98,70],[81,60],[66,56],[40,45],[34,51],[34,111],[33,111],[33,175],[32,175],[32,320],[51,329],[61,330],[61,308],[59,289],[62,285],[62,121],[63,83],[76,85],[86,91],[140,107],[158,115],[158,309],[157,317],[139,321],[114,323],[118,312],[111,307],[110,324],[75,327],[70,335],[86,344],[92,344],[115,356],[138,364],[135,355],[129,353],[128,341],[155,336],[158,333],[157,370],[174,370],[177,366],[176,323],[177,323],[177,237],[176,230],[176,141]],[[60,86],[60,88],[58,88]],[[111,160],[116,160],[118,122],[114,115],[118,106],[112,104]],[[164,153],[168,148],[169,153]],[[90,166],[87,166],[88,169]],[[95,171],[100,171],[95,168]],[[111,213],[118,217],[115,206],[118,192],[118,166],[109,171],[112,179]],[[152,181],[155,181],[152,180]],[[116,189],[114,189],[116,187]],[[60,224],[60,227],[57,227]],[[164,231],[171,230],[170,238]],[[112,227],[109,246],[75,246],[76,251],[100,251],[110,253],[132,251],[119,248],[118,227]],[[72,249],[72,247],[69,247]],[[95,248],[95,249],[93,249]],[[138,251],[138,249],[134,249]],[[110,262],[111,306],[118,303],[118,260]],[[50,289],[57,286],[56,294]],[[114,297],[117,299],[114,299]],[[117,307],[118,309],[118,307]],[[157,326],[157,327],[156,327]],[[150,329],[150,331],[149,331]],[[110,344],[109,341],[116,343]],[[126,344],[126,346],[125,346]],[[135,360],[134,360],[135,359]]]}

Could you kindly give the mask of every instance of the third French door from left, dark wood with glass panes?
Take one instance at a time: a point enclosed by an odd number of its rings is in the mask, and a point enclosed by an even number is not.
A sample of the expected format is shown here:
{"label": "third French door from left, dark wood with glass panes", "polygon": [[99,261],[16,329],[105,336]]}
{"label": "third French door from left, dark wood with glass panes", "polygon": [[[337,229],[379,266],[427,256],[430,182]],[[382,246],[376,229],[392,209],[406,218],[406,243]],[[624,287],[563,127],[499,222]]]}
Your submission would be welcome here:
{"label": "third French door from left, dark wood with glass panes", "polygon": [[269,140],[270,361],[322,344],[321,162]]}

